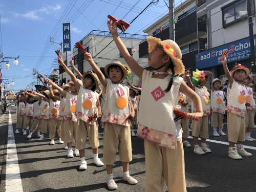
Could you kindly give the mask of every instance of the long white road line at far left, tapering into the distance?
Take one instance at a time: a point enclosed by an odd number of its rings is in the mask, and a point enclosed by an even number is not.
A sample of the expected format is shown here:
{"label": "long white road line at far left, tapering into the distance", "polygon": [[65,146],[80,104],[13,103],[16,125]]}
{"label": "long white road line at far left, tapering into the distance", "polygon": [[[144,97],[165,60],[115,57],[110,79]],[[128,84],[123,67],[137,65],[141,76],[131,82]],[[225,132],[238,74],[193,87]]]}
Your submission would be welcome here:
{"label": "long white road line at far left, tapering into the distance", "polygon": [[22,179],[20,179],[18,156],[13,134],[11,112],[8,120],[8,142],[6,156],[6,192],[23,191]]}

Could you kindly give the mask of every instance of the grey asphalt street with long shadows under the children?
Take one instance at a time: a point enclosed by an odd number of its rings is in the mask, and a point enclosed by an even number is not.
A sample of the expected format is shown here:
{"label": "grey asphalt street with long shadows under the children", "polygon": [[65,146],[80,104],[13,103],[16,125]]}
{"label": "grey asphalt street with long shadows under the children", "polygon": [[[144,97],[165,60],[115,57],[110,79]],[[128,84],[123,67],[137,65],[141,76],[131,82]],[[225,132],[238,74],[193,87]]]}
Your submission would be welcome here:
{"label": "grey asphalt street with long shadows under the children", "polygon": [[[8,125],[9,117],[12,124]],[[12,184],[8,184],[10,181],[6,180],[6,175],[9,173],[6,169],[6,160],[9,153],[7,141],[11,139],[11,136],[7,135],[8,127],[12,125],[14,132],[16,127],[15,108],[8,108],[6,114],[0,116],[0,123],[0,170],[2,169],[0,191],[110,191],[105,183],[105,166],[97,167],[93,164],[93,153],[89,143],[86,147],[88,168],[81,172],[80,158],[68,159],[67,151],[63,150],[64,144],[58,144],[57,139],[55,139],[55,145],[49,145],[48,135],[47,139],[38,142],[35,138],[36,134],[28,140],[21,133],[15,134],[14,137],[18,158],[17,167],[22,182],[20,188],[12,187]],[[226,130],[225,124],[225,133]],[[227,136],[213,137],[211,129],[209,129],[209,135],[207,144],[212,153],[200,156],[194,154],[194,147],[184,148],[187,191],[256,191],[256,141],[244,142],[246,150],[252,153],[252,157],[233,160],[227,156]],[[256,138],[256,129],[252,130],[251,136]],[[99,158],[102,159],[103,129],[101,128],[99,128],[99,138]],[[192,139],[189,138],[188,141],[191,143]],[[143,143],[142,139],[132,137],[133,161],[130,164],[130,175],[138,180],[136,185],[122,181],[122,168],[117,154],[113,171],[118,185],[116,191],[145,191]],[[14,154],[13,152],[9,155],[11,157]],[[14,163],[15,161],[11,162],[11,164]],[[167,191],[166,187],[164,191]]]}

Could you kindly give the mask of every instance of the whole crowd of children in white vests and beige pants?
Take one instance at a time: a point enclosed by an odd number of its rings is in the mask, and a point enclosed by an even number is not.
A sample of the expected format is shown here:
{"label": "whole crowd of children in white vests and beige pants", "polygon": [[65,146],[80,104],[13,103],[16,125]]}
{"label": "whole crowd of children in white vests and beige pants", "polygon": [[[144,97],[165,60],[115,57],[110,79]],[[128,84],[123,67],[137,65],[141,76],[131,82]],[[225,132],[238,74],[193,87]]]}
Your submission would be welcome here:
{"label": "whole crowd of children in white vests and beige pants", "polygon": [[[127,65],[142,80],[142,89],[133,84],[130,87],[122,85],[121,82],[131,71],[120,61],[105,66],[105,74],[110,78],[107,80],[91,54],[84,52],[84,59],[93,71],[80,74],[71,61],[77,78],[58,56],[59,65],[72,81],[61,88],[45,78],[45,82],[49,83],[48,86],[45,84],[48,90],[20,92],[17,95],[15,133],[23,129],[23,135],[27,135],[29,127],[27,138],[30,139],[37,130],[38,141],[42,141],[49,128],[50,144],[53,145],[57,131],[59,143],[66,143],[68,158],[74,157],[72,142],[75,143],[81,170],[87,169],[84,148],[88,137],[93,162],[97,166],[106,165],[109,189],[118,187],[112,173],[117,151],[122,162],[122,179],[130,184],[138,182],[129,173],[131,136],[136,136],[134,126],[137,127],[137,136],[144,139],[146,191],[162,191],[164,181],[169,191],[186,191],[183,146],[191,147],[187,141],[191,131],[194,153],[203,155],[211,152],[206,145],[209,116],[213,135],[226,136],[223,118],[227,113],[228,157],[242,159],[242,156],[252,156],[242,145],[245,140],[255,141],[251,137],[256,110],[255,93],[251,88],[252,76],[246,67],[238,64],[229,72],[225,55],[221,58],[228,78],[226,105],[220,79],[211,81],[211,89],[205,87],[209,77],[213,76],[211,72],[196,70],[191,80],[189,71],[185,72],[181,50],[175,41],[147,38],[148,65],[154,68],[154,71],[147,71],[125,48],[117,33],[117,23],[108,21],[108,27]],[[140,98],[137,97],[138,91],[141,91]],[[103,109],[99,101],[101,93]],[[184,111],[186,119],[175,121],[174,109]],[[101,117],[104,126],[102,161],[98,158],[98,117]]]}

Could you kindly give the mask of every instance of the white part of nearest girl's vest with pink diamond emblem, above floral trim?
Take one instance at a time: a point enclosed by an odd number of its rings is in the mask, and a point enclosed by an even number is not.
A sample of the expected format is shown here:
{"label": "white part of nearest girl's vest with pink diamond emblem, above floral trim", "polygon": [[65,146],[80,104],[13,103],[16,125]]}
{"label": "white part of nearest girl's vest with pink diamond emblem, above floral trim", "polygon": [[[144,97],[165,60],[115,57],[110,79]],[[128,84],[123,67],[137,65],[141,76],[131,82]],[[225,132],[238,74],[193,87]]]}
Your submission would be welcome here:
{"label": "white part of nearest girl's vest with pink diamond emblem, above floral trim", "polygon": [[181,77],[173,79],[173,86],[167,93],[167,79],[152,78],[153,72],[143,71],[138,122],[151,129],[177,136],[174,122],[174,106],[178,102]]}

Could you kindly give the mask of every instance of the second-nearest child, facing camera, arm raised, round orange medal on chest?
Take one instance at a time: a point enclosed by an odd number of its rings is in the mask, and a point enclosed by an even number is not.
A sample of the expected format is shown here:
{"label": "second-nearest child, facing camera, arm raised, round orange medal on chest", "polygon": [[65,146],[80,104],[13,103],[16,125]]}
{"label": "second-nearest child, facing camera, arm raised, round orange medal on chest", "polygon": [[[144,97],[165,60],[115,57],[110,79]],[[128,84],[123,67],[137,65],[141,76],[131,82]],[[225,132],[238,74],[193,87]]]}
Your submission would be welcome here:
{"label": "second-nearest child, facing camera, arm raised, round orange medal on chest", "polygon": [[130,69],[122,65],[120,61],[113,61],[105,66],[105,74],[96,66],[90,53],[84,54],[103,85],[103,114],[101,122],[104,124],[103,140],[103,163],[106,164],[106,184],[109,189],[116,189],[117,185],[113,179],[113,164],[116,152],[119,152],[122,162],[123,181],[137,184],[138,181],[129,175],[129,162],[132,161],[131,120],[134,118],[134,108],[129,96],[129,88],[120,83],[126,79]]}

